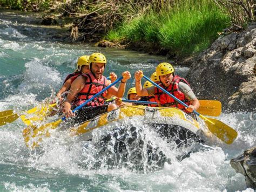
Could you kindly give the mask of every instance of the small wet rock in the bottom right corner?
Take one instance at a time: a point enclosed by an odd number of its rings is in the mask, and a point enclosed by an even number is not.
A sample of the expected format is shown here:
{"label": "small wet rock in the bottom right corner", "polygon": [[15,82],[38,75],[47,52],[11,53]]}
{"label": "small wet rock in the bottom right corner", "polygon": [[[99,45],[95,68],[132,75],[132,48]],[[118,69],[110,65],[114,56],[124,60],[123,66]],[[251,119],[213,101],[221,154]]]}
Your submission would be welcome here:
{"label": "small wet rock in the bottom right corner", "polygon": [[247,187],[256,189],[256,147],[248,149],[244,154],[230,161],[237,173],[245,176]]}

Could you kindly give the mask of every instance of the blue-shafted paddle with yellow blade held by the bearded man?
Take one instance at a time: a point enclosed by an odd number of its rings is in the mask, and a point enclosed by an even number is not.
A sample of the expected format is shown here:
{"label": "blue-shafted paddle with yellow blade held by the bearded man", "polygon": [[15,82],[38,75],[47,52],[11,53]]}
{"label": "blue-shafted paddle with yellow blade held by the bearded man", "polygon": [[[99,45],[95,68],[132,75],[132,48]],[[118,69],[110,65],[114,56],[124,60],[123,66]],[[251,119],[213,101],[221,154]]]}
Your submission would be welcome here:
{"label": "blue-shafted paddle with yellow blade held by the bearded man", "polygon": [[[104,91],[108,90],[110,87],[112,87],[113,85],[116,85],[120,80],[122,80],[123,77],[119,77],[116,81],[114,81],[112,84],[110,84],[109,86],[105,87],[102,91],[98,92],[96,95],[94,95],[92,98],[88,99],[87,101],[85,101],[83,104],[79,105],[77,108],[73,109],[73,113],[75,113],[76,111],[78,111],[80,108],[82,108],[83,106],[85,106],[88,102],[92,101],[93,99],[95,99],[96,97],[98,97],[100,94],[102,94]],[[39,127],[37,129],[37,131],[42,131],[44,130],[46,127],[49,127],[49,128],[56,128],[58,127],[58,125],[60,124],[60,122],[62,122],[63,120],[65,120],[66,117],[63,116],[62,119],[59,119],[58,121],[55,121],[55,122],[51,122],[49,124],[45,124],[41,127]]]}

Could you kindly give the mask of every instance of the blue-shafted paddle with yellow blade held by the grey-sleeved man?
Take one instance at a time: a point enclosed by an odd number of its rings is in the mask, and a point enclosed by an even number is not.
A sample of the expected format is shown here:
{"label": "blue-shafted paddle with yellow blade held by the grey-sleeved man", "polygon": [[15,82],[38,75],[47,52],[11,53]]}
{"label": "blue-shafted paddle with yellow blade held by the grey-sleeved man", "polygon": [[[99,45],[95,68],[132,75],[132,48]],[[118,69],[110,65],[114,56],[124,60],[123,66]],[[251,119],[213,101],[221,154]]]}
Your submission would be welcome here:
{"label": "blue-shafted paddle with yellow blade held by the grey-sleeved man", "polygon": [[[179,100],[178,98],[174,97],[171,93],[167,92],[164,88],[160,87],[156,83],[154,83],[151,79],[149,79],[146,76],[143,76],[146,80],[150,81],[154,86],[159,88],[161,91],[172,97],[174,100],[178,101],[180,104],[182,104],[185,107],[188,107],[184,102]],[[232,129],[230,126],[224,124],[224,122],[221,122],[217,119],[213,118],[206,118],[205,116],[199,114],[197,111],[193,111],[193,113],[197,114],[200,118],[202,118],[205,121],[205,124],[207,125],[208,129],[215,135],[217,138],[219,138],[221,141],[224,141],[228,145],[234,142],[235,138],[237,138],[237,132]]]}

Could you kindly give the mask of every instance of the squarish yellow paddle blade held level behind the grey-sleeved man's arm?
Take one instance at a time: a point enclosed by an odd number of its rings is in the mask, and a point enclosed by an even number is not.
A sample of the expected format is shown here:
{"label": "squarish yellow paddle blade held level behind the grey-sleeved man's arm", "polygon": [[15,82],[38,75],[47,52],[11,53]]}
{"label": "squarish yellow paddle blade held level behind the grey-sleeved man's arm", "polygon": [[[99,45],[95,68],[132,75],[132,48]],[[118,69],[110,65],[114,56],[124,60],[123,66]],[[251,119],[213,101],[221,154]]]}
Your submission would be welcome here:
{"label": "squarish yellow paddle blade held level behind the grey-sleeved man's arm", "polygon": [[200,107],[197,110],[202,115],[219,116],[221,114],[221,102],[215,100],[199,100]]}

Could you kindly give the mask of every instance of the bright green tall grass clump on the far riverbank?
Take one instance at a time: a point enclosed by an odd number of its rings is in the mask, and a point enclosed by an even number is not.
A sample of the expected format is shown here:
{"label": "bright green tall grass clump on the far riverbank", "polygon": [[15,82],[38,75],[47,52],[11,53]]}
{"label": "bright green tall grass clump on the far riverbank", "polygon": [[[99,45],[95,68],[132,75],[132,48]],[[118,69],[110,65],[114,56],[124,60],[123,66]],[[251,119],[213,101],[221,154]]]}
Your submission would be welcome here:
{"label": "bright green tall grass clump on the far riverbank", "polygon": [[177,56],[199,53],[230,26],[230,18],[211,0],[177,1],[172,7],[139,14],[107,33],[106,39],[160,44]]}

